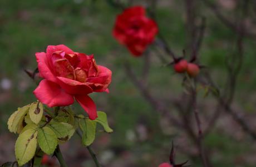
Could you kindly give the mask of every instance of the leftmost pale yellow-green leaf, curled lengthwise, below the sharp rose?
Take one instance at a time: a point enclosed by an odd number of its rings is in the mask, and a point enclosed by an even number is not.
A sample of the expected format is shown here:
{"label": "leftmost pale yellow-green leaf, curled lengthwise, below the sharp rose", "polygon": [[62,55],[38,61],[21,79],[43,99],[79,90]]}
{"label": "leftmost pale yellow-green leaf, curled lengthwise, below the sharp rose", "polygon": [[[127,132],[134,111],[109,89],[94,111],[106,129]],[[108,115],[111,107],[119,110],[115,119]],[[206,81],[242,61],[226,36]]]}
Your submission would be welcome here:
{"label": "leftmost pale yellow-green leaf, curled lengthwise, below the sharp rose", "polygon": [[27,114],[29,109],[29,105],[26,105],[22,108],[18,108],[16,112],[14,112],[11,117],[8,119],[8,129],[13,133],[20,133],[23,128],[23,119]]}

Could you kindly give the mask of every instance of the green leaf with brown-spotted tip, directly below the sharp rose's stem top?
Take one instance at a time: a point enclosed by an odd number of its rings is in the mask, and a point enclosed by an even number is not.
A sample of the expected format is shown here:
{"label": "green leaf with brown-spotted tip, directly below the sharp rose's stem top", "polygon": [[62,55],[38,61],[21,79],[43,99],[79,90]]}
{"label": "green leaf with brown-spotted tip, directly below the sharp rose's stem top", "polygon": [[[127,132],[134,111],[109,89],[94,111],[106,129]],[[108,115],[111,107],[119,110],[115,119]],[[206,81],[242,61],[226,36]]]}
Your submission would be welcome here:
{"label": "green leaf with brown-spotted tip, directly below the sharp rose's stem top", "polygon": [[75,132],[73,126],[68,123],[51,121],[47,126],[53,130],[61,143],[69,140]]}

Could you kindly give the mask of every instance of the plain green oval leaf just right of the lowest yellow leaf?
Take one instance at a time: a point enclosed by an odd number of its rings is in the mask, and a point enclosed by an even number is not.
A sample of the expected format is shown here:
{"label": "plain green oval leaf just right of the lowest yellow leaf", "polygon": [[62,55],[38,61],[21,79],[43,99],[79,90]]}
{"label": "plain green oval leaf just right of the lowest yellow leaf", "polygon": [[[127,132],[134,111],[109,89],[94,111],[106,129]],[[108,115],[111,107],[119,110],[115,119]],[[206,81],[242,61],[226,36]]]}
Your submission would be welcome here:
{"label": "plain green oval leaf just right of the lowest yellow leaf", "polygon": [[58,144],[57,136],[47,126],[40,128],[38,130],[38,144],[43,152],[50,155],[55,151]]}

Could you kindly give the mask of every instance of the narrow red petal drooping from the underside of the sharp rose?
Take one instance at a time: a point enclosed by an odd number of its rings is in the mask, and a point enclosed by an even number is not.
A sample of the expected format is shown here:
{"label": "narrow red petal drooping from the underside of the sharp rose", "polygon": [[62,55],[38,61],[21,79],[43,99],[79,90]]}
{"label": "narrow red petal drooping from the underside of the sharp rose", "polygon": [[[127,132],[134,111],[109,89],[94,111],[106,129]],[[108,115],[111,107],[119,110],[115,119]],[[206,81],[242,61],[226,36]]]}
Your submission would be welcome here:
{"label": "narrow red petal drooping from the underside of the sharp rose", "polygon": [[75,99],[81,105],[81,107],[86,111],[86,113],[89,115],[89,118],[91,120],[94,120],[98,117],[96,105],[93,102],[93,100],[90,97],[88,97],[88,95],[75,95]]}

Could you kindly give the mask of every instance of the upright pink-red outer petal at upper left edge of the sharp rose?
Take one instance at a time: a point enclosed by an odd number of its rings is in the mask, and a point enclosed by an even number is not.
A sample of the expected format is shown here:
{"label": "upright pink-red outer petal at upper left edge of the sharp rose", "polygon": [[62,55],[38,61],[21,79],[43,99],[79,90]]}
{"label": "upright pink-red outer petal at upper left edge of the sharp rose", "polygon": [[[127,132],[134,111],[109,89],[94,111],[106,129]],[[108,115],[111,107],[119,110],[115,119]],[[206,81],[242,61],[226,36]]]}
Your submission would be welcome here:
{"label": "upright pink-red outer petal at upper left edge of the sharp rose", "polygon": [[36,53],[36,59],[37,59],[37,63],[38,63],[38,70],[39,70],[40,76],[42,78],[51,80],[52,82],[56,82],[57,79],[53,75],[53,73],[50,70],[50,67],[48,65],[46,53],[45,52]]}

